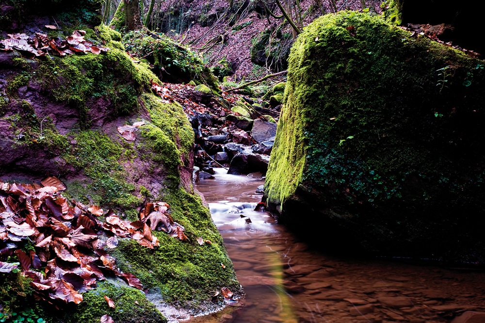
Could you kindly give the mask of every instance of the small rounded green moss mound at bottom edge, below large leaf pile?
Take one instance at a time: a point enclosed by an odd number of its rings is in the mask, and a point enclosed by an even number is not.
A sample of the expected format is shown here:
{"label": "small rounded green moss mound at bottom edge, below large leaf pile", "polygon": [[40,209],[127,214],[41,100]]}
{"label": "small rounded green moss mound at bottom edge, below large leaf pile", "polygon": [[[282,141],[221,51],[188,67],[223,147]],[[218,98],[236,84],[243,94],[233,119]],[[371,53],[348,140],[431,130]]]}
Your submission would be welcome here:
{"label": "small rounded green moss mound at bottom edge, below large leaf pile", "polygon": [[[105,295],[114,301],[114,308],[108,306]],[[95,290],[83,293],[82,297],[81,304],[73,312],[66,313],[69,322],[99,323],[99,318],[105,314],[119,323],[167,322],[162,313],[146,299],[145,294],[134,288],[110,281],[100,282]]]}

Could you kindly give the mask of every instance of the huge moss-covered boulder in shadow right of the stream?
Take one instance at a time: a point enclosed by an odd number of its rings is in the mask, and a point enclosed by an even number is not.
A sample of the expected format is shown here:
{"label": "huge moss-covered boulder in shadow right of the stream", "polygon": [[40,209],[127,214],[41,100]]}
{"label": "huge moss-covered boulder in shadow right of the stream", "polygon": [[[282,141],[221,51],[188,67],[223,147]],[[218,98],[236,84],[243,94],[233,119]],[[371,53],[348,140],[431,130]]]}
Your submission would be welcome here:
{"label": "huge moss-covered boulder in shadow right of the stream", "polygon": [[327,249],[483,263],[484,67],[379,17],[318,18],[292,48],[268,206]]}

